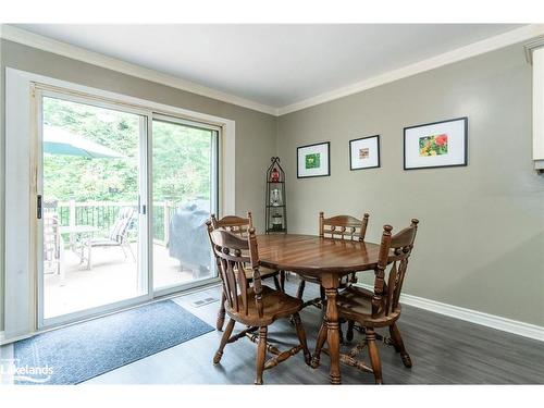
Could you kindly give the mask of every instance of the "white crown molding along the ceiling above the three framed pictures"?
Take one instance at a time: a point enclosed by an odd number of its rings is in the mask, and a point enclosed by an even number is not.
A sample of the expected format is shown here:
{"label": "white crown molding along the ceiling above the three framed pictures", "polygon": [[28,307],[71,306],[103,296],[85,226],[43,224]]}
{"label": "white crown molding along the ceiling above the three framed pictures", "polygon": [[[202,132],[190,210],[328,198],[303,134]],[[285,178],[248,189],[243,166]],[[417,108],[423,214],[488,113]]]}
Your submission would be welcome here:
{"label": "white crown molding along the ceiling above the three framed pictures", "polygon": [[462,61],[471,57],[475,57],[485,52],[490,52],[499,48],[508,47],[514,44],[522,42],[531,38],[544,34],[544,24],[530,24],[523,27],[512,29],[498,36],[490,37],[468,46],[457,48],[455,50],[444,52],[442,54],[416,62],[410,65],[403,66],[397,70],[376,75],[374,77],[351,84],[335,90],[331,90],[302,101],[279,108],[277,115],[284,115],[317,104],[339,99],[349,95],[358,94],[362,90],[375,88],[376,86],[388,84],[408,76],[412,76],[425,71],[431,71],[440,66]]}

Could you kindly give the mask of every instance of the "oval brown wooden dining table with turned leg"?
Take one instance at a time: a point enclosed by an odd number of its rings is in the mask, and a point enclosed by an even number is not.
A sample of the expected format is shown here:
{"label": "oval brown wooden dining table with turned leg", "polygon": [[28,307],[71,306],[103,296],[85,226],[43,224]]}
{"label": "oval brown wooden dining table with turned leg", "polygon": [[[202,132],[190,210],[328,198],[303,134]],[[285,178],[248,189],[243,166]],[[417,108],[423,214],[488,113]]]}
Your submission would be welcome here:
{"label": "oval brown wooden dining table with turned leg", "polygon": [[343,276],[374,270],[380,245],[322,238],[314,235],[270,234],[257,236],[263,267],[319,277],[326,295],[326,343],[331,359],[330,380],[341,384],[339,323],[336,296]]}

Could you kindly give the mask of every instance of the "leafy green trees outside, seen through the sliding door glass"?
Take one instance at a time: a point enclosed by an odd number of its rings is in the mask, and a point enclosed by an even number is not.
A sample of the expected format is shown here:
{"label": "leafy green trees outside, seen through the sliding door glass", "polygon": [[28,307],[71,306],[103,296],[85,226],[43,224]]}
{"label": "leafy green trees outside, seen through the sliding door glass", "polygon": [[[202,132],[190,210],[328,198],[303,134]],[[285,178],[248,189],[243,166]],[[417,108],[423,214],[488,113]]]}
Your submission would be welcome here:
{"label": "leafy green trees outside, seen through the sliding door glass", "polygon": [[[138,194],[139,116],[55,98],[44,98],[44,124],[62,127],[123,154],[89,159],[44,156],[48,200],[136,201]],[[210,198],[212,133],[154,122],[153,199],[185,201]]]}

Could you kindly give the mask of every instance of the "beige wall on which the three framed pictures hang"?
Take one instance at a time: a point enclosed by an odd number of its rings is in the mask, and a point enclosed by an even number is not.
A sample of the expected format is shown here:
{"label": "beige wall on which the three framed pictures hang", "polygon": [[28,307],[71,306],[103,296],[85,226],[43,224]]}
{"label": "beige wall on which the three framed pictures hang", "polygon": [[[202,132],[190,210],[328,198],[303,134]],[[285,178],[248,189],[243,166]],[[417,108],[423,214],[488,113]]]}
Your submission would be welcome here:
{"label": "beige wall on which the three framed pictures hang", "polygon": [[[512,46],[279,119],[290,232],[371,213],[369,239],[420,219],[405,293],[544,325],[544,177],[531,162],[531,67]],[[403,170],[403,128],[469,118],[467,168]],[[381,135],[382,166],[348,140]],[[331,141],[331,176],[297,180],[296,147]],[[368,282],[368,280],[367,280]]]}

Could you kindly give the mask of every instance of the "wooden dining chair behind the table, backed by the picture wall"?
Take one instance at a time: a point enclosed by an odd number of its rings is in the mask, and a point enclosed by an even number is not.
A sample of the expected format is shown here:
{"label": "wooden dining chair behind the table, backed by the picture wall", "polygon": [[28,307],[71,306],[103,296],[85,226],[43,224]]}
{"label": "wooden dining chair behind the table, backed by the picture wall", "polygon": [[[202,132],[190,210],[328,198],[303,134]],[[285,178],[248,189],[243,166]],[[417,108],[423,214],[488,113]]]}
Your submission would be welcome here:
{"label": "wooden dining chair behind the table, backed by the picture wall", "polygon": [[[358,220],[350,215],[336,215],[329,219],[324,218],[323,211],[319,213],[319,236],[322,238],[333,239],[349,239],[364,240],[367,234],[367,225],[369,223],[369,214],[364,213],[362,220]],[[305,307],[312,305],[322,308],[325,301],[325,292],[318,277],[299,274],[300,283],[298,284],[297,297],[302,298],[306,282],[311,282],[320,285],[320,297],[310,299],[305,302]],[[344,276],[341,281],[341,288],[346,287],[350,283],[357,282],[356,273],[350,273]]]}

